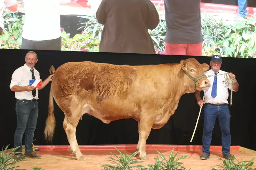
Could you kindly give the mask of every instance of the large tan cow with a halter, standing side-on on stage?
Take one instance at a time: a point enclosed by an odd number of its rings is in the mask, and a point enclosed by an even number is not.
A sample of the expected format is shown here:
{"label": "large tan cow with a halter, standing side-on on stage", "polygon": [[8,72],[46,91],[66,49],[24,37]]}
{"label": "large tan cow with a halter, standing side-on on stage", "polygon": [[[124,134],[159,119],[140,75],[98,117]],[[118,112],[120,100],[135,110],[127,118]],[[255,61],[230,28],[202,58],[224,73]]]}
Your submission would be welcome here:
{"label": "large tan cow with a halter, standing side-on on stage", "polygon": [[86,113],[106,124],[119,119],[135,119],[139,132],[136,149],[139,158],[146,160],[146,140],[151,128],[159,129],[168,122],[183,94],[210,87],[204,75],[207,70],[209,65],[200,64],[194,58],[147,66],[90,61],[65,63],[56,70],[51,83],[45,137],[52,141],[55,128],[53,97],[65,114],[63,128],[77,160],[83,159],[83,155],[75,132]]}

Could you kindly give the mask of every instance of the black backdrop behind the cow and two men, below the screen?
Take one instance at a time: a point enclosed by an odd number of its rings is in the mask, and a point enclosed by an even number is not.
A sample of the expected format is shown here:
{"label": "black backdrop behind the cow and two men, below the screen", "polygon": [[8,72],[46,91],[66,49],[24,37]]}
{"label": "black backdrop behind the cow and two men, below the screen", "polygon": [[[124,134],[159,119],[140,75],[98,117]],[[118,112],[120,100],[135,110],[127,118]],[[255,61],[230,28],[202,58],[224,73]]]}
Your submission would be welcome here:
{"label": "black backdrop behind the cow and two men, below the screen", "polygon": [[[25,50],[0,49],[1,61],[1,117],[0,147],[11,144],[16,128],[15,96],[10,90],[11,75],[15,69],[24,65]],[[181,59],[189,56],[168,55],[143,55],[143,54],[119,54],[96,52],[63,52],[63,51],[35,51],[38,54],[36,69],[40,72],[42,80],[49,76],[49,68],[53,65],[56,69],[69,61],[94,61],[112,63],[118,65],[149,65],[160,63],[179,63]],[[210,57],[194,57],[200,63],[209,64]],[[231,112],[231,138],[232,145],[240,145],[256,150],[255,137],[255,72],[256,59],[223,58],[222,70],[232,72],[240,84],[238,92],[233,93],[233,105]],[[34,139],[36,145],[68,145],[65,131],[62,127],[63,112],[54,102],[54,115],[56,117],[56,131],[52,143],[44,140],[45,120],[48,115],[50,83],[39,91],[39,115]],[[159,89],[161,90],[161,89]],[[203,92],[201,93],[203,97]],[[230,101],[230,99],[229,99]],[[185,94],[181,97],[178,109],[170,117],[169,122],[158,130],[151,130],[147,144],[192,144],[202,145],[203,110],[200,115],[197,130],[190,142],[196,124],[200,107],[197,105],[193,94]],[[79,122],[76,137],[80,145],[87,144],[137,144],[138,125],[133,119],[123,119],[110,124],[104,124],[99,119],[84,115]],[[211,145],[221,145],[221,131],[218,119],[212,132]]]}

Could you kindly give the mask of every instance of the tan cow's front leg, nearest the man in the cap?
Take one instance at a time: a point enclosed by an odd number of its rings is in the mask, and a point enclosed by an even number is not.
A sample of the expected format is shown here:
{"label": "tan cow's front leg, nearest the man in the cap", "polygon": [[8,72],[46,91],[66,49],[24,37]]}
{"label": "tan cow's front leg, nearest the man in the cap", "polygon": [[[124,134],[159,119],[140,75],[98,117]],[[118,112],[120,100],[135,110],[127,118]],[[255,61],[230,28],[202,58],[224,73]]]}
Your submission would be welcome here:
{"label": "tan cow's front leg, nearest the man in the cap", "polygon": [[146,141],[148,139],[149,133],[151,131],[151,128],[153,124],[155,123],[157,114],[143,114],[143,116],[140,120],[139,126],[139,142],[138,142],[138,150],[139,150],[139,158],[141,160],[147,160],[147,154],[146,154]]}

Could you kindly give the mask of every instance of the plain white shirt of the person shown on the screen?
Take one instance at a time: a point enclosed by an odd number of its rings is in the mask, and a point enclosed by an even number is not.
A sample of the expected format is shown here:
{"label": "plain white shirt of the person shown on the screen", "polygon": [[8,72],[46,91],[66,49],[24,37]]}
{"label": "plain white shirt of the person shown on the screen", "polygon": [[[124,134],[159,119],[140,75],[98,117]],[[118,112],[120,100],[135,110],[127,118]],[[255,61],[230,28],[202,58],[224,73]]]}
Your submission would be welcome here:
{"label": "plain white shirt of the person shown on the screen", "polygon": [[53,40],[61,36],[61,0],[23,0],[25,22],[22,37],[32,41]]}

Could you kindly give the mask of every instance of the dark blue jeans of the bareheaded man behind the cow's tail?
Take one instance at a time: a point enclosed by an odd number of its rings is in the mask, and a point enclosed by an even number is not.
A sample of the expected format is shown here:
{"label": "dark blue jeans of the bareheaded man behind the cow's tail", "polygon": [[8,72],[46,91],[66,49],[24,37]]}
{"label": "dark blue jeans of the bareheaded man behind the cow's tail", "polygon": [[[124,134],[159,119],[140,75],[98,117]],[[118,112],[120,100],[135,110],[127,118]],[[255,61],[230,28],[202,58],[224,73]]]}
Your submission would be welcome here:
{"label": "dark blue jeans of the bareheaded man behind the cow's tail", "polygon": [[[14,148],[22,145],[23,134],[25,133],[25,153],[33,151],[33,138],[36,130],[38,103],[30,100],[16,101],[17,127],[14,134]],[[22,152],[19,147],[16,152]]]}

